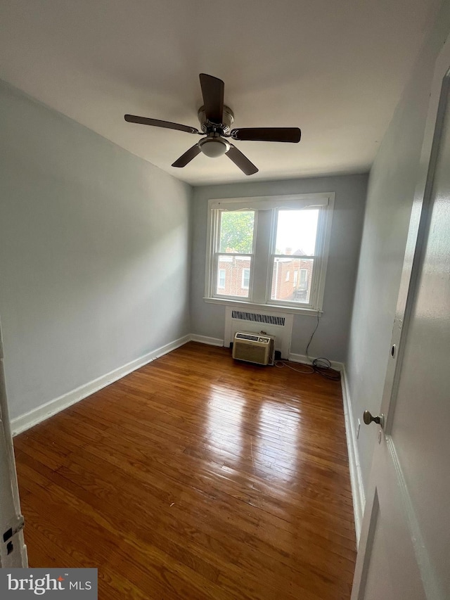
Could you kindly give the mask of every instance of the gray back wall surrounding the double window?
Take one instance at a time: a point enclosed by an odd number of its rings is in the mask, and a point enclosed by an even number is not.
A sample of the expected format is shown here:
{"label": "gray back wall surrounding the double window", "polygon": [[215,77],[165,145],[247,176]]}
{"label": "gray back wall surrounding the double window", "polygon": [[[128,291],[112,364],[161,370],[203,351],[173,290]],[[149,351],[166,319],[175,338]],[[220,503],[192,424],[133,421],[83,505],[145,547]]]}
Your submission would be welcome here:
{"label": "gray back wall surrounding the double window", "polygon": [[[334,191],[335,209],[330,258],[323,300],[323,317],[309,347],[310,356],[343,361],[347,352],[349,322],[366,199],[366,175],[320,177],[288,181],[246,181],[243,184],[203,186],[194,189],[193,255],[191,283],[192,333],[224,338],[225,308],[208,304],[205,293],[207,201],[210,198],[275,196],[288,193]],[[291,352],[304,355],[316,319],[296,315]]]}

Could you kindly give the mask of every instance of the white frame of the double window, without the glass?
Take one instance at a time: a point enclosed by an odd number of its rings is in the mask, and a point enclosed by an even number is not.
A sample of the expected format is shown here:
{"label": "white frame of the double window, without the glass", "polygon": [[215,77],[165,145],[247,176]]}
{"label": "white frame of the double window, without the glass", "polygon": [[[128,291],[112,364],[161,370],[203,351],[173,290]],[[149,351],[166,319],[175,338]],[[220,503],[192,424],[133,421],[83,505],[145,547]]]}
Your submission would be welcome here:
{"label": "white frame of the double window, without the glass", "polygon": [[[334,192],[210,199],[208,202],[204,300],[222,305],[243,305],[245,307],[251,305],[260,308],[270,306],[274,310],[300,314],[322,312],[334,200]],[[271,300],[277,209],[300,210],[301,208],[319,209],[309,304]],[[255,210],[252,253],[240,255],[240,257],[249,256],[251,258],[248,298],[218,295],[216,292],[219,222],[222,210]],[[230,256],[233,255],[230,254]]]}

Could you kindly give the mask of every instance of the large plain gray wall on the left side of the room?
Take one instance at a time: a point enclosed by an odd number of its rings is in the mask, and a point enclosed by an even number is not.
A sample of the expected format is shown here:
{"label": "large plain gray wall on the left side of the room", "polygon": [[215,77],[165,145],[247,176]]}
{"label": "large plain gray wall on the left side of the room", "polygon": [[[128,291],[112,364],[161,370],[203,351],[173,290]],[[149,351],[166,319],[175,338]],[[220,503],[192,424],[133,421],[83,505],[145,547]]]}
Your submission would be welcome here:
{"label": "large plain gray wall on the left side of the room", "polygon": [[190,333],[191,193],[0,84],[11,418]]}

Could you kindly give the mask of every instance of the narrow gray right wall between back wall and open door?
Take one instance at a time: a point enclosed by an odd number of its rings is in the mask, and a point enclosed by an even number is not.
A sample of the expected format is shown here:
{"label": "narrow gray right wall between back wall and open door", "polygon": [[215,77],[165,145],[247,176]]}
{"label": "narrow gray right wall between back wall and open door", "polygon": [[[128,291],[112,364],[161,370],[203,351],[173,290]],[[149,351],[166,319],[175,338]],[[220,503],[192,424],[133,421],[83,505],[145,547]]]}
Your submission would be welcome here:
{"label": "narrow gray right wall between back wall and open door", "polygon": [[[404,90],[371,170],[347,356],[354,423],[378,414],[435,60],[450,30],[446,1]],[[376,428],[362,426],[359,459],[367,488]]]}

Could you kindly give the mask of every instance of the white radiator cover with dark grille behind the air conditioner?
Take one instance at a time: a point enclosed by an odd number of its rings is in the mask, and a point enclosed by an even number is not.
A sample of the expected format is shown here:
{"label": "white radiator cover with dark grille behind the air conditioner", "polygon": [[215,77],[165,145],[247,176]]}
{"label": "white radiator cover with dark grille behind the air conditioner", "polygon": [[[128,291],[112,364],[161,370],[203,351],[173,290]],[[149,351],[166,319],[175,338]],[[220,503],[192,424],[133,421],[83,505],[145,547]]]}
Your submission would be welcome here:
{"label": "white radiator cover with dark grille behind the air conditioner", "polygon": [[281,358],[288,359],[290,340],[293,334],[294,315],[282,312],[262,310],[243,310],[226,307],[224,345],[230,347],[238,331],[265,333],[275,338],[275,350],[281,352]]}

